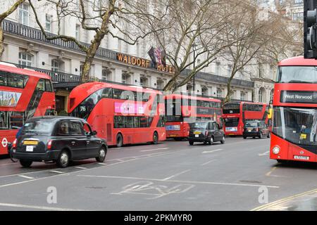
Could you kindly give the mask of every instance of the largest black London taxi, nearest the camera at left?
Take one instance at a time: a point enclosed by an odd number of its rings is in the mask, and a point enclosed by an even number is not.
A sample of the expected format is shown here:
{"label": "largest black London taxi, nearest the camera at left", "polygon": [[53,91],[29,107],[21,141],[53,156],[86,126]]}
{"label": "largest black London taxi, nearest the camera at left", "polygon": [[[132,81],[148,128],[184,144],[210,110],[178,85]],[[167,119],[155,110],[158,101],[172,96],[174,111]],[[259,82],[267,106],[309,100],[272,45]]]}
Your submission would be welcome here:
{"label": "largest black London taxi, nearest the camera at left", "polygon": [[56,162],[67,167],[71,160],[96,158],[104,162],[107,144],[89,124],[77,117],[43,116],[27,120],[13,142],[13,158],[23,167],[32,162]]}

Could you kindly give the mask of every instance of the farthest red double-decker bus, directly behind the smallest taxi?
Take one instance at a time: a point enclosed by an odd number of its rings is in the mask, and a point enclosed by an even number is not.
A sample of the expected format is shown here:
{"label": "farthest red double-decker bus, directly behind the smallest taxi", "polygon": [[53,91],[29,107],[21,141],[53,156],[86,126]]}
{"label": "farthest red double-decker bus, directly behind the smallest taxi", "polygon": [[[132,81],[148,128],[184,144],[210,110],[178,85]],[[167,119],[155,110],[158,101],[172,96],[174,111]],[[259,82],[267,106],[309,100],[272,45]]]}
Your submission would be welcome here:
{"label": "farthest red double-decker bus, directly behind the smallest taxi", "polygon": [[268,105],[244,101],[225,103],[223,105],[223,120],[225,135],[242,135],[246,121],[263,120],[268,124]]}

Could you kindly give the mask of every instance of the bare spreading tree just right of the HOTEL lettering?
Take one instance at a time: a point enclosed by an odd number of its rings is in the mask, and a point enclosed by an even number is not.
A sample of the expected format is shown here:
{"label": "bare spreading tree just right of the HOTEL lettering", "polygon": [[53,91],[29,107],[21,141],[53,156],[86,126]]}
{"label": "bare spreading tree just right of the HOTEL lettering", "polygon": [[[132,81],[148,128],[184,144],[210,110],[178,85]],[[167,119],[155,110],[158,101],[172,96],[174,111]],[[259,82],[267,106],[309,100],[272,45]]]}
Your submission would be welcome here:
{"label": "bare spreading tree just right of the HOTEL lettering", "polygon": [[[223,38],[223,28],[228,22],[223,1],[170,0],[169,5],[163,23],[150,24],[152,29],[166,28],[151,34],[152,44],[165,51],[168,63],[175,68],[164,87],[164,91],[175,91],[208,67],[230,43]],[[185,78],[181,74],[186,74]]]}

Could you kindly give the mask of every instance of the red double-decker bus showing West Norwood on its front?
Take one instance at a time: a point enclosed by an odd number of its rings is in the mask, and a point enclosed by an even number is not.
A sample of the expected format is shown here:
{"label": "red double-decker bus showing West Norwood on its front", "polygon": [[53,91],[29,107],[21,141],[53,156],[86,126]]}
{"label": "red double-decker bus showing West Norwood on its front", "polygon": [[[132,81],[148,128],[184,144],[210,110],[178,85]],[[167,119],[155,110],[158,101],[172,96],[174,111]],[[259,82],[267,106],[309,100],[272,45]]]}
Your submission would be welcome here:
{"label": "red double-decker bus showing West Norwood on its front", "polygon": [[273,96],[270,158],[316,162],[317,60],[303,56],[278,63]]}

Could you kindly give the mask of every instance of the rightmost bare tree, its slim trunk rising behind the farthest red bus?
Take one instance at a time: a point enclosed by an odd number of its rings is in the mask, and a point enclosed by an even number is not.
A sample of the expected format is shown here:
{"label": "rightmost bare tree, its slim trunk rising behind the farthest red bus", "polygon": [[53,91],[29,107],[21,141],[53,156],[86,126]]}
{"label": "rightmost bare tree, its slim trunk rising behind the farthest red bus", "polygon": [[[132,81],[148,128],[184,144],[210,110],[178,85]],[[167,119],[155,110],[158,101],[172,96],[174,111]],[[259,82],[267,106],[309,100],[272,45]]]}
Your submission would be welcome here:
{"label": "rightmost bare tree, its slim trunk rising behind the farthest red bus", "polygon": [[[231,66],[230,77],[227,82],[227,95],[223,103],[230,101],[233,94],[231,82],[238,72],[242,72],[248,65],[259,63],[267,55],[266,46],[276,41],[276,34],[280,27],[276,25],[278,18],[272,17],[268,11],[261,11],[254,4],[237,1],[226,8],[236,11],[235,18],[225,27],[226,39],[233,41],[223,53],[223,58]],[[233,8],[232,8],[233,7]]]}

